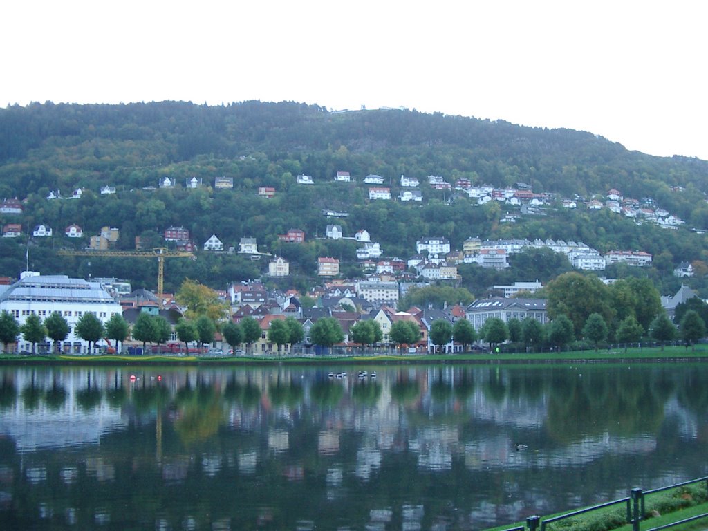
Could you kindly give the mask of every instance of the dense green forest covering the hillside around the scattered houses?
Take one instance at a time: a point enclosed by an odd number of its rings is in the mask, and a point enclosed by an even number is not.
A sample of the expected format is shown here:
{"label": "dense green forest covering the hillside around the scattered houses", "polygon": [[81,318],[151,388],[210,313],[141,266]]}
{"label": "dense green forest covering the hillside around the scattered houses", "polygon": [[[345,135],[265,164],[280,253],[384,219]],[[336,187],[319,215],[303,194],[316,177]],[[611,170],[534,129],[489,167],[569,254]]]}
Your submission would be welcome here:
{"label": "dense green forest covering the hillside around the scattered houses", "polygon": [[[337,171],[349,171],[357,182],[333,182]],[[315,185],[297,185],[300,173],[312,176]],[[417,177],[425,200],[372,202],[362,183],[371,173],[384,177],[393,195],[400,190],[399,176]],[[429,175],[496,187],[523,182],[535,193],[582,200],[618,188],[625,196],[652,198],[686,225],[678,231],[638,226],[582,204],[577,210],[551,205],[542,215],[501,224],[506,205],[471,205],[467,195],[455,190],[430,188]],[[178,186],[160,189],[158,182],[166,176]],[[215,190],[217,176],[234,178],[234,188]],[[203,184],[195,190],[185,187],[193,177]],[[588,132],[415,110],[329,113],[316,105],[258,101],[215,107],[35,103],[0,110],[0,199],[23,200],[19,219],[0,215],[0,222],[21,222],[25,232],[39,223],[55,229],[50,239],[30,238],[30,267],[42,273],[118,276],[147,287],[154,287],[152,261],[136,267],[109,259],[57,257],[58,249],[86,245],[86,239],[65,238],[64,227],[79,224],[86,237],[105,225],[118,227],[118,249],[134,249],[135,236],[144,246],[163,245],[161,234],[171,225],[188,228],[198,246],[211,234],[227,247],[255,236],[261,252],[291,261],[287,283],[299,289],[316,280],[318,256],[340,258],[344,275],[362,273],[355,242],[317,238],[324,236],[327,224],[341,224],[345,236],[366,229],[384,256],[401,258],[411,256],[416,240],[428,236],[445,236],[457,249],[470,236],[574,240],[600,252],[653,254],[652,268],[615,266],[606,274],[649,275],[662,292],[670,292],[680,283],[672,275],[675,265],[696,262],[702,272],[701,264],[708,261],[705,236],[690,231],[708,227],[707,177],[707,161],[629,152]],[[117,193],[101,195],[105,185]],[[275,188],[275,197],[258,197],[258,186]],[[80,199],[47,200],[52,191],[70,197],[76,188],[84,189]],[[345,211],[348,217],[324,217],[324,208]],[[304,230],[307,243],[278,241],[278,234],[290,228]],[[24,268],[27,240],[0,241],[0,275],[15,277]],[[480,295],[493,283],[549,280],[569,267],[554,257],[537,258],[523,253],[502,272],[465,265],[462,283]],[[185,276],[223,288],[261,277],[265,265],[242,256],[200,253],[195,261],[169,261],[166,288],[175,289]],[[701,290],[703,280],[697,275],[691,282]]]}

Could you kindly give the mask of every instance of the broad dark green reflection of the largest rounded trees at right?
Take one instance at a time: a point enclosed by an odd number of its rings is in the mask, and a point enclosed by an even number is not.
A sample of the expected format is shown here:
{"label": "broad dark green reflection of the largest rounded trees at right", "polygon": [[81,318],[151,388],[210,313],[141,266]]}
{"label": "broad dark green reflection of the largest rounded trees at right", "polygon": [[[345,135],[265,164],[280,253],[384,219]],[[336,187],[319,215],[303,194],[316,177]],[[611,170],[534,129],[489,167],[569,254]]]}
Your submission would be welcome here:
{"label": "broad dark green reflection of the largest rounded trees at right", "polygon": [[[573,371],[576,372],[576,371]],[[558,374],[549,389],[546,428],[556,440],[569,442],[588,434],[636,435],[656,432],[668,396],[653,386],[656,375],[639,371],[591,370]]]}

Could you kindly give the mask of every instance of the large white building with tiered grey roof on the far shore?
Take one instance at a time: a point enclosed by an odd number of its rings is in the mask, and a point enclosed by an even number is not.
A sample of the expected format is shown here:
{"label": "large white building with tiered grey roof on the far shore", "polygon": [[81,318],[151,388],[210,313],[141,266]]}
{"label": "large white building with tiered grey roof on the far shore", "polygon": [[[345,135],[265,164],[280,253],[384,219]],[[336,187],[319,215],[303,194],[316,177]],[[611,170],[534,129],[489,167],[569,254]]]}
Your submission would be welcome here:
{"label": "large white building with tiered grey roof on the far shore", "polygon": [[[122,307],[99,282],[89,282],[67,275],[40,275],[25,271],[21,279],[9,286],[0,286],[0,312],[5,311],[24,324],[31,314],[42,321],[53,312],[59,312],[69,323],[70,331],[62,343],[67,353],[86,353],[89,343],[75,335],[76,323],[81,316],[92,313],[103,322],[113,314],[122,314]],[[24,338],[18,338],[19,350],[32,350]],[[49,350],[50,340],[40,349]]]}

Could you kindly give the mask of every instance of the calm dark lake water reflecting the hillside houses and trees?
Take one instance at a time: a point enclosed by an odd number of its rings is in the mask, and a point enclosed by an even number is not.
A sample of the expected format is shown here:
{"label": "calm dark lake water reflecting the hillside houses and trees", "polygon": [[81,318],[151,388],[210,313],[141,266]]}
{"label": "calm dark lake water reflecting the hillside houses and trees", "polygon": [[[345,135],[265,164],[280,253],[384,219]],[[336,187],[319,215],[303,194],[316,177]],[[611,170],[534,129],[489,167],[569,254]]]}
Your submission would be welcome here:
{"label": "calm dark lake water reflecting the hillside houses and trees", "polygon": [[472,530],[707,456],[705,365],[0,368],[3,530]]}

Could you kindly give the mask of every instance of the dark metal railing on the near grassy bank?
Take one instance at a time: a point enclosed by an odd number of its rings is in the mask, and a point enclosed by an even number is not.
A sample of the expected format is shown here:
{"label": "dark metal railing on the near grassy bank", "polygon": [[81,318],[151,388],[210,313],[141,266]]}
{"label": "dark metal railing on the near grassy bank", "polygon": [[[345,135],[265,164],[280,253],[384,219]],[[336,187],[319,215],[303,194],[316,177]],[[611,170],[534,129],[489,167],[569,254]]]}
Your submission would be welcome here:
{"label": "dark metal railing on the near grassy bank", "polygon": [[[641,521],[645,520],[644,515],[646,514],[646,503],[644,498],[646,495],[662,491],[669,491],[671,489],[678,489],[680,487],[700,483],[702,481],[706,484],[706,495],[708,499],[708,476],[704,476],[697,479],[691,479],[689,481],[683,481],[682,483],[663,486],[658,489],[651,489],[649,491],[643,491],[642,489],[632,489],[632,491],[629,492],[629,496],[627,496],[627,498],[620,498],[619,500],[608,501],[605,503],[600,503],[599,505],[573,510],[569,513],[563,513],[561,515],[556,515],[551,518],[542,519],[540,516],[537,515],[530,516],[526,519],[525,525],[520,525],[518,527],[509,527],[508,529],[505,529],[503,531],[547,531],[547,527],[554,522],[559,522],[560,520],[565,520],[566,518],[573,518],[575,516],[583,515],[586,513],[592,513],[593,511],[606,509],[608,507],[616,506],[621,503],[626,504],[627,508],[627,521],[624,522],[624,524],[632,524],[632,531],[640,531]],[[670,527],[675,527],[676,525],[691,523],[695,520],[700,520],[701,518],[707,517],[708,513],[702,513],[700,515],[695,515],[690,518],[676,520],[675,522],[668,523],[666,525],[661,525],[659,527],[652,527],[651,529],[647,529],[644,531],[660,531],[668,529]]]}

